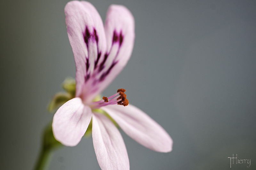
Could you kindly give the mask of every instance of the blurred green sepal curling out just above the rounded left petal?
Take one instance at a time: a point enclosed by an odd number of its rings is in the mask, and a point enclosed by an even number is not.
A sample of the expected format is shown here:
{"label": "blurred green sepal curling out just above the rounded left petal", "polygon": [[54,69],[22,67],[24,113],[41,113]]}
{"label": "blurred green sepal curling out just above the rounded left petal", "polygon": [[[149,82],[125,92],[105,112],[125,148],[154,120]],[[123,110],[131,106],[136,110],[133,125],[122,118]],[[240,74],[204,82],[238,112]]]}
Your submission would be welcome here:
{"label": "blurred green sepal curling out just above the rounded left petal", "polygon": [[58,92],[53,97],[47,106],[48,112],[53,112],[57,107],[60,107],[68,100],[72,99],[72,96],[67,92]]}

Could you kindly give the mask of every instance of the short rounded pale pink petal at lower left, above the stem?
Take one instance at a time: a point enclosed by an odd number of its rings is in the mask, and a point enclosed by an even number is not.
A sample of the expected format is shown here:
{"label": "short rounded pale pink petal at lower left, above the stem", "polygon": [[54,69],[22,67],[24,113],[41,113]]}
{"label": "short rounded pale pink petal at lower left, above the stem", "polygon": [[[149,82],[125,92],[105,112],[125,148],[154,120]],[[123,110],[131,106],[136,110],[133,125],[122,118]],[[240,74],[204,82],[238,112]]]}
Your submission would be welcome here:
{"label": "short rounded pale pink petal at lower left, above the stem", "polygon": [[91,121],[92,110],[80,98],[73,98],[63,104],[52,120],[52,132],[56,140],[66,146],[76,146]]}

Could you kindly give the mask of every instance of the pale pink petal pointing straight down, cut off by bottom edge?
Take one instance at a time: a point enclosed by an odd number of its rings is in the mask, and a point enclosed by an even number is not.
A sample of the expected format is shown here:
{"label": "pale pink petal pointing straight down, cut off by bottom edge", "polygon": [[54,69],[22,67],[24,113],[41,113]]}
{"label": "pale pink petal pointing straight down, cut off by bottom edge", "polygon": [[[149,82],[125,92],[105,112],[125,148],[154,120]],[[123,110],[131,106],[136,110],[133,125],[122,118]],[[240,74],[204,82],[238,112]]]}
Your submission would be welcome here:
{"label": "pale pink petal pointing straight down, cut off by bottom edge", "polygon": [[102,170],[130,169],[124,140],[106,116],[92,115],[92,140]]}

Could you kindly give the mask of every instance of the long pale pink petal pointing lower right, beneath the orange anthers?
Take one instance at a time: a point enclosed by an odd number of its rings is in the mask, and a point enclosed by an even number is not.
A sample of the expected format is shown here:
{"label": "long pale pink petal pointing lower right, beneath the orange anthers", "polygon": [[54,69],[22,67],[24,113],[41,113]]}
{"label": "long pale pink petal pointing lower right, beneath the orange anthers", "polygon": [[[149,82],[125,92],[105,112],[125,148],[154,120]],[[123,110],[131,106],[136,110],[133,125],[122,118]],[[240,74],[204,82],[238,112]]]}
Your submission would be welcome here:
{"label": "long pale pink petal pointing lower right, beneath the orange anthers", "polygon": [[129,104],[101,107],[124,132],[139,144],[157,152],[171,152],[172,138],[146,113]]}

